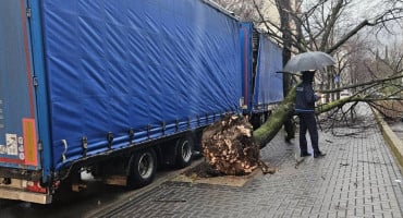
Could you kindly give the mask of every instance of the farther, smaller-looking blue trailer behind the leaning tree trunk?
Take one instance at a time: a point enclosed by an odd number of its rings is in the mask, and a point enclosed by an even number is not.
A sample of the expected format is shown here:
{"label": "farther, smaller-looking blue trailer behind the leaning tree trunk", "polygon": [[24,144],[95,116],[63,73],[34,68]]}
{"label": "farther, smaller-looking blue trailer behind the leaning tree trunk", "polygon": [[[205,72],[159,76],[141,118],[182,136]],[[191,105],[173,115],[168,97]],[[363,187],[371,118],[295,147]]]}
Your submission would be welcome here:
{"label": "farther, smaller-looking blue trailer behind the leaning tree trunk", "polygon": [[282,49],[249,22],[242,22],[243,113],[259,128],[283,100]]}

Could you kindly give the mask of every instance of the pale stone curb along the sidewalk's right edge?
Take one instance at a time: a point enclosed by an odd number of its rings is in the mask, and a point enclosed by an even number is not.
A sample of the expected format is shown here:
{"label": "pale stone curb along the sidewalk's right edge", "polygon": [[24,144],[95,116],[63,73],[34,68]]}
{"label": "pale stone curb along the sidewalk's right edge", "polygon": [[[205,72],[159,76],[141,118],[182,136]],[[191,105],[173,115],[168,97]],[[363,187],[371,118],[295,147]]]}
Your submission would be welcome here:
{"label": "pale stone curb along the sidewalk's right edge", "polygon": [[387,141],[390,149],[392,150],[394,157],[396,158],[401,169],[403,170],[403,142],[398,137],[398,135],[389,128],[388,123],[381,118],[378,111],[374,111],[375,119],[379,125],[379,129]]}

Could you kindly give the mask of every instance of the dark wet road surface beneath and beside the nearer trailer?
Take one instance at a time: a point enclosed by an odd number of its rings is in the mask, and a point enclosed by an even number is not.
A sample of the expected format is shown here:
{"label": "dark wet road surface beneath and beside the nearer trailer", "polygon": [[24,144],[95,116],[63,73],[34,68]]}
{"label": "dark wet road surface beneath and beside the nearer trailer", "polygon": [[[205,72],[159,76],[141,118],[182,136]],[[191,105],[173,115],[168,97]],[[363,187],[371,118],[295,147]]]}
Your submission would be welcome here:
{"label": "dark wet road surface beneath and beside the nearer trailer", "polygon": [[107,185],[96,180],[87,181],[87,189],[78,193],[72,192],[68,185],[62,185],[53,196],[53,202],[50,205],[0,199],[0,218],[94,217],[93,214],[106,210],[117,203],[126,202],[133,198],[133,196],[148,192],[164,181],[170,180],[170,178],[174,178],[181,171],[170,168],[159,169],[151,185],[136,190]]}

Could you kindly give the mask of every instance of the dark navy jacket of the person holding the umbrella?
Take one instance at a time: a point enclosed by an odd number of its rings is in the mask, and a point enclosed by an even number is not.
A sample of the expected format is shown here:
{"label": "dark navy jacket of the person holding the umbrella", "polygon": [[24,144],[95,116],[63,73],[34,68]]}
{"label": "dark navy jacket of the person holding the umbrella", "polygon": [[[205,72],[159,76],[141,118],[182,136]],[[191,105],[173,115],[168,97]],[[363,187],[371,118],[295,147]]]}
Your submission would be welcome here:
{"label": "dark navy jacket of the person holding the umbrella", "polygon": [[313,113],[315,112],[315,101],[318,100],[315,95],[312,83],[304,82],[296,87],[295,95],[295,112],[296,113]]}

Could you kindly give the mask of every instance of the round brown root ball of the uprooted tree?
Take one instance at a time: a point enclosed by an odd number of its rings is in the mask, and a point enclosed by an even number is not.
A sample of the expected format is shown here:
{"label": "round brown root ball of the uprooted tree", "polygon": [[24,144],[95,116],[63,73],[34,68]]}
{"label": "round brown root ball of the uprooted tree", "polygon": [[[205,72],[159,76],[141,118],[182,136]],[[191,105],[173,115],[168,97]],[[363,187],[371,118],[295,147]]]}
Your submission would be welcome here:
{"label": "round brown root ball of the uprooted tree", "polygon": [[202,145],[211,168],[227,175],[248,174],[261,162],[253,126],[245,117],[229,114],[207,126]]}

